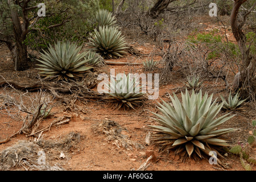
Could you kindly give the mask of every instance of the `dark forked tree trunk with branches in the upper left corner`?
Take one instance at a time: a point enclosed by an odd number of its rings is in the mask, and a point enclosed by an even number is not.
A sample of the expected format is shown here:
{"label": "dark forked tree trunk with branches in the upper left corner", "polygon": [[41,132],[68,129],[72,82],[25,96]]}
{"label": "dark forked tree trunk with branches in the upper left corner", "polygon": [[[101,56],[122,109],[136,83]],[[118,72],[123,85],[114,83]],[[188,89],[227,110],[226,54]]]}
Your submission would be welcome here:
{"label": "dark forked tree trunk with branches in the upper left corner", "polygon": [[[7,6],[10,9],[10,18],[13,23],[13,32],[11,35],[1,34],[0,31],[0,42],[6,43],[8,48],[11,51],[11,56],[14,61],[14,69],[15,71],[23,71],[28,68],[28,57],[27,57],[27,47],[24,44],[26,40],[26,36],[31,30],[40,30],[39,28],[35,28],[34,25],[37,23],[38,19],[41,18],[39,16],[29,17],[30,11],[38,9],[38,6],[29,6],[31,0],[5,0],[7,2]],[[0,3],[2,1],[0,0]],[[114,2],[114,0],[113,0]],[[21,14],[18,14],[17,7],[21,8]],[[2,12],[2,11],[0,11]],[[2,14],[2,13],[1,13]],[[62,26],[66,22],[69,22],[70,18],[62,20],[61,23],[53,24],[47,27],[47,29],[55,28]],[[33,22],[33,23],[31,23]],[[31,23],[31,24],[30,24]],[[2,27],[0,27],[1,30]]]}

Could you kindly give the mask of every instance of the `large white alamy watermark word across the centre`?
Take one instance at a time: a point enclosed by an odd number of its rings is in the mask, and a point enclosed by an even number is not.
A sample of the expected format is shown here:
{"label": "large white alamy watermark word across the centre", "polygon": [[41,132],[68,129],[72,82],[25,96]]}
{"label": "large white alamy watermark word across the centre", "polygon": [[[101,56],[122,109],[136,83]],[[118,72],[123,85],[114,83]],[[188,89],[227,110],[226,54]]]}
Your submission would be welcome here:
{"label": "large white alamy watermark word across the centre", "polygon": [[[149,100],[157,100],[159,96],[159,73],[128,73],[130,81],[134,79],[134,87],[127,88],[127,82],[122,81],[125,73],[115,75],[115,69],[110,69],[110,78],[106,73],[98,75],[97,80],[99,93],[147,93]],[[154,76],[154,82],[153,82]],[[153,88],[154,85],[154,88]],[[126,88],[126,89],[123,89]]]}

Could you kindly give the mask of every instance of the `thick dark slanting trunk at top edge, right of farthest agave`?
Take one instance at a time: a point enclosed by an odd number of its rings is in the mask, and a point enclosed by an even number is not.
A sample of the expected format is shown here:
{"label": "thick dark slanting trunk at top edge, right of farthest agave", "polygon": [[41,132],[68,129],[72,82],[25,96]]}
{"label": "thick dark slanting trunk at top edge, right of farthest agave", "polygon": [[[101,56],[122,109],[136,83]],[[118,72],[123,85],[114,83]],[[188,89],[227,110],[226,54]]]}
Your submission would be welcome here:
{"label": "thick dark slanting trunk at top edge, right of farthest agave", "polygon": [[171,2],[174,2],[177,0],[157,0],[155,2],[154,6],[149,10],[147,13],[152,18],[157,18],[159,14],[161,14]]}

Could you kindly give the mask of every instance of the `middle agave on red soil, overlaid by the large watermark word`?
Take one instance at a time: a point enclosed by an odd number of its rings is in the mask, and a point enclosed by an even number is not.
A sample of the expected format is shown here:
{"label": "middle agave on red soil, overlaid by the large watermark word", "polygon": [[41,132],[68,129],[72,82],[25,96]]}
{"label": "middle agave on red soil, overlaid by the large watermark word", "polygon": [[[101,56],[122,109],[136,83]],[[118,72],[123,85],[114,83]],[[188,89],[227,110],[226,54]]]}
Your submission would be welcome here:
{"label": "middle agave on red soil, overlaid by the large watermark word", "polygon": [[110,78],[109,90],[106,93],[105,100],[111,102],[114,109],[135,109],[145,101],[145,93],[142,92],[142,86],[130,74],[117,75],[116,78]]}

